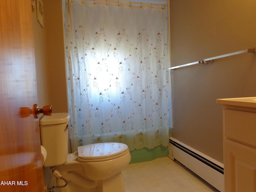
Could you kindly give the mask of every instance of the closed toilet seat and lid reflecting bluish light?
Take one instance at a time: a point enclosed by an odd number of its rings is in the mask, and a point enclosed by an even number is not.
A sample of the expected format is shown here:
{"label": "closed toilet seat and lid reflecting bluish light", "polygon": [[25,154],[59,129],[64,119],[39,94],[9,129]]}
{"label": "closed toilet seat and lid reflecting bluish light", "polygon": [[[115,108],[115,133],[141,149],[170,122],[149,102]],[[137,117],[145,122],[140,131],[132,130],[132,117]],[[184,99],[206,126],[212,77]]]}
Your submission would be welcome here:
{"label": "closed toilet seat and lid reflecting bluish light", "polygon": [[78,147],[80,162],[98,162],[118,158],[128,153],[129,149],[123,143],[95,143]]}

